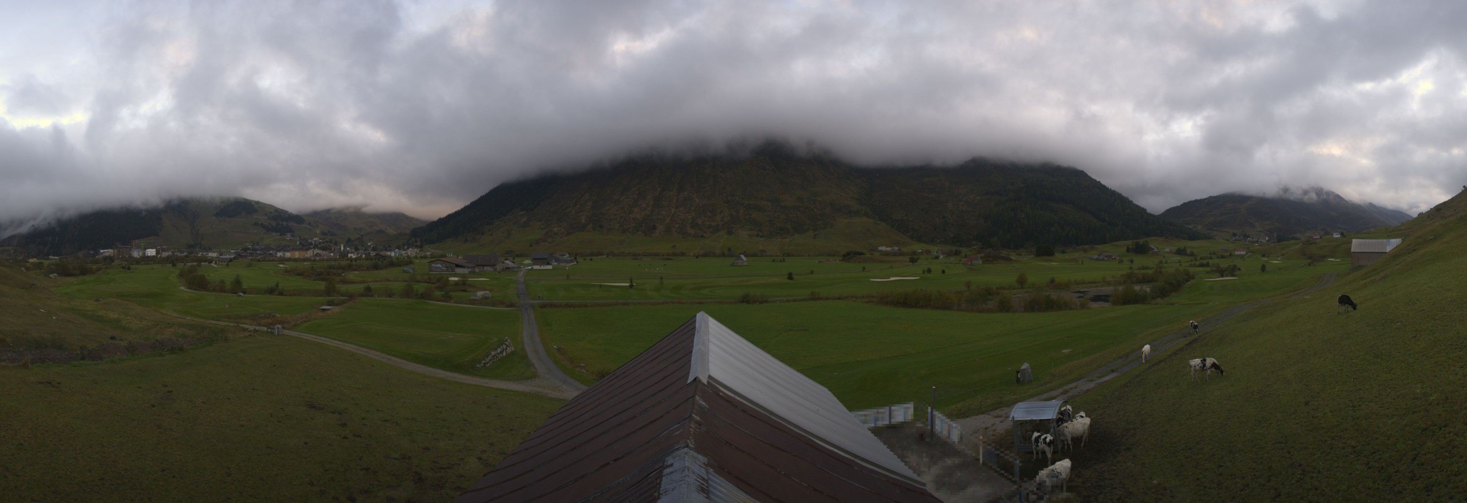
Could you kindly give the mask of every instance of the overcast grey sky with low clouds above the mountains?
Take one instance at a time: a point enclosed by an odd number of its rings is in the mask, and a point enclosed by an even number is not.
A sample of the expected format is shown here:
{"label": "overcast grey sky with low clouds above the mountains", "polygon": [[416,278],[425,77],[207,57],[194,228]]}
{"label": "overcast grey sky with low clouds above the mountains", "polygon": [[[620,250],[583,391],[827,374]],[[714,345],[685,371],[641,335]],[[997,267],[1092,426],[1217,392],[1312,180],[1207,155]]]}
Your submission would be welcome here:
{"label": "overcast grey sky with low clouds above the mountains", "polygon": [[1467,1],[0,0],[0,220],[244,195],[439,217],[631,150],[1084,169],[1153,213],[1467,183]]}

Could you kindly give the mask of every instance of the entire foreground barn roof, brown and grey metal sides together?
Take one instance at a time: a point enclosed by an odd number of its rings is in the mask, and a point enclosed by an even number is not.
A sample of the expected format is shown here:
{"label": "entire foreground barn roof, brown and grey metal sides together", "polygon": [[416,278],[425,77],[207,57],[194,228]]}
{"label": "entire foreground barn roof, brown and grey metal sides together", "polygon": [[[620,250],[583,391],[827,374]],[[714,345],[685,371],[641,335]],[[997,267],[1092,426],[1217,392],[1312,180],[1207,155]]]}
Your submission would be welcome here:
{"label": "entire foreground barn roof, brown and grey metal sides together", "polygon": [[939,502],[829,390],[698,312],[455,502]]}

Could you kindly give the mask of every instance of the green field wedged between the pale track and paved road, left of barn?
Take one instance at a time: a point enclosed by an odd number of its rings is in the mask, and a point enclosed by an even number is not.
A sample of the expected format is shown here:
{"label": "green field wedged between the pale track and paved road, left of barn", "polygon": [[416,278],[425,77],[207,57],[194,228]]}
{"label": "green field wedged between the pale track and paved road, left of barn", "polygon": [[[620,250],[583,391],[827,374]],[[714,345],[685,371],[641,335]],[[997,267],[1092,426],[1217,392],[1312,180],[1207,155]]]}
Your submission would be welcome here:
{"label": "green field wedged between the pale track and paved road, left of barn", "polygon": [[[293,330],[376,349],[411,362],[502,380],[534,378],[519,339],[519,309],[487,309],[424,301],[358,299]],[[475,367],[505,337],[515,350]]]}

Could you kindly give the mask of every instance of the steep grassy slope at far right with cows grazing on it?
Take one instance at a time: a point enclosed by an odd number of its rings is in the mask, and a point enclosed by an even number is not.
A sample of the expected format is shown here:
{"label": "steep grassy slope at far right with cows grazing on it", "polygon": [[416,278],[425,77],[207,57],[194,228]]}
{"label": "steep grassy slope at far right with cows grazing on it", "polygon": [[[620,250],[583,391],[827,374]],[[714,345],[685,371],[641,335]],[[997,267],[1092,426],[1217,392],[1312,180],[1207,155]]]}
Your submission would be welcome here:
{"label": "steep grassy slope at far right with cows grazing on it", "polygon": [[[1467,494],[1467,201],[1438,208],[1395,229],[1407,241],[1380,262],[1080,397],[1096,437],[1074,481],[1094,500],[1134,502]],[[1339,293],[1361,309],[1336,315]],[[1190,383],[1185,361],[1199,356],[1228,375]]]}

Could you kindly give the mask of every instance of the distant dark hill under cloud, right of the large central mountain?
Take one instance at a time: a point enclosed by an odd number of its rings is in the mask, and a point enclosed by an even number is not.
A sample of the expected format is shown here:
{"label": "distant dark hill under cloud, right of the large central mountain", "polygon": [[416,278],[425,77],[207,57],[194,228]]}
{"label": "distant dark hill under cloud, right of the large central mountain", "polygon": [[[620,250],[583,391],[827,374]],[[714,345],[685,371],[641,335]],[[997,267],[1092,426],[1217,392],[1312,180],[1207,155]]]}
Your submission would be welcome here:
{"label": "distant dark hill under cloud, right of the large central mountain", "polygon": [[1289,191],[1281,197],[1213,195],[1168,208],[1162,217],[1215,232],[1272,233],[1281,238],[1389,227],[1411,219],[1404,211],[1353,202],[1320,188]]}

